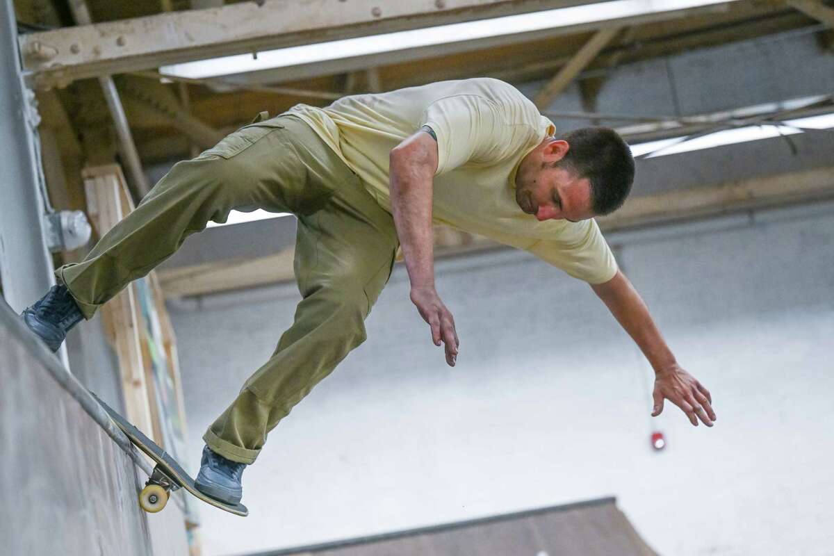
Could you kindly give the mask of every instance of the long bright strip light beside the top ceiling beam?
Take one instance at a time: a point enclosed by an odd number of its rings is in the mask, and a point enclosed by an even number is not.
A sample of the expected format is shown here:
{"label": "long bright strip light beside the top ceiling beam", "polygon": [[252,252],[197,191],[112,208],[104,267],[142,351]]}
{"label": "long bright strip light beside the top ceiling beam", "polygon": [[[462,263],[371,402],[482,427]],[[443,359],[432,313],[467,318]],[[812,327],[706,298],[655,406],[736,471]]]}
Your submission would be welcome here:
{"label": "long bright strip light beside the top ceiling beam", "polygon": [[259,52],[257,59],[252,54],[238,54],[198,62],[178,63],[159,68],[159,73],[190,79],[214,78],[221,75],[286,68],[299,64],[367,56],[407,48],[460,43],[479,38],[570,27],[583,23],[602,23],[612,19],[671,12],[724,2],[726,0],[615,0],[614,2],[592,3],[572,8],[522,13],[503,18],[452,23],[411,31],[279,48]]}

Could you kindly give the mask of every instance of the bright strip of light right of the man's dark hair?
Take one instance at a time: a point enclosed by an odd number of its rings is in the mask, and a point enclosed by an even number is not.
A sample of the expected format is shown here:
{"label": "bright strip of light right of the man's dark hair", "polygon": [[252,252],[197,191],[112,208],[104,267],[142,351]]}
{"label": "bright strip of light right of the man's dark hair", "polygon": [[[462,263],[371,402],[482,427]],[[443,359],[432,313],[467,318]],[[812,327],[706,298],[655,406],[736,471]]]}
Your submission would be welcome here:
{"label": "bright strip of light right of the man's dark hair", "polygon": [[688,153],[704,148],[721,147],[722,145],[746,143],[748,141],[776,138],[781,135],[803,133],[798,128],[834,128],[834,113],[788,120],[782,125],[755,125],[744,128],[726,129],[688,141],[684,140],[686,136],[681,136],[661,139],[659,141],[650,141],[648,143],[637,143],[636,145],[631,145],[631,154],[638,157],[646,153],[652,153],[646,158],[656,158],[666,156],[667,154]]}

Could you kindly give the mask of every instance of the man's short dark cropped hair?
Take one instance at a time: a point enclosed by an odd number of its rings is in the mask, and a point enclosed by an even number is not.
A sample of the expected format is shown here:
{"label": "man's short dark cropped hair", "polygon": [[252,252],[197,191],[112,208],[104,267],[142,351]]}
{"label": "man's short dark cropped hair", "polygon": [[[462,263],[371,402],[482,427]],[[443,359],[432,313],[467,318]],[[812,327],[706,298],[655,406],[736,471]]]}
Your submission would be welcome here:
{"label": "man's short dark cropped hair", "polygon": [[594,213],[610,214],[620,208],[634,183],[634,157],[620,135],[611,128],[580,128],[557,139],[567,141],[570,149],[554,166],[589,179]]}

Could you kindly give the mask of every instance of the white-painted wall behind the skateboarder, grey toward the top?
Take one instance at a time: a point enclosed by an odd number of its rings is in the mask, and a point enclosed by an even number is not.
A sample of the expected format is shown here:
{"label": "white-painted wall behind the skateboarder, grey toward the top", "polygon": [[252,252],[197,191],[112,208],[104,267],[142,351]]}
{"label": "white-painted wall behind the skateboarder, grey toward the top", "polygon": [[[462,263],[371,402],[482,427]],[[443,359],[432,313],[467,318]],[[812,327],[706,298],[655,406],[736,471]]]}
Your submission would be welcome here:
{"label": "white-painted wall behind the skateboarder, grey toward the top", "polygon": [[[461,338],[445,366],[398,267],[369,340],[244,473],[249,518],[204,508],[208,554],[247,553],[615,495],[662,554],[831,554],[834,204],[611,236],[715,428],[667,403],[590,288],[525,253],[437,264]],[[189,440],[269,357],[291,286],[172,303]],[[668,448],[653,453],[661,428]]]}

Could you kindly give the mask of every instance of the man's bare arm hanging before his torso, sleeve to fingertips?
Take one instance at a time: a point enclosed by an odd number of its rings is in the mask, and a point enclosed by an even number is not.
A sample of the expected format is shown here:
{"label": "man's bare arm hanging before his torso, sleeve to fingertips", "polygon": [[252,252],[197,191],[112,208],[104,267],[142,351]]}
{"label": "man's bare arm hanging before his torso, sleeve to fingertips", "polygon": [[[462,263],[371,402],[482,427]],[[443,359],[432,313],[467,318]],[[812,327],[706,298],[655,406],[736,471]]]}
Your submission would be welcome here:
{"label": "man's bare arm hanging before his torso, sleeve to fingertips", "polygon": [[435,289],[431,201],[437,163],[437,142],[428,131],[414,133],[391,150],[391,212],[409,272],[411,301],[429,323],[435,345],[445,344],[446,363],[454,367],[460,346],[455,319]]}

